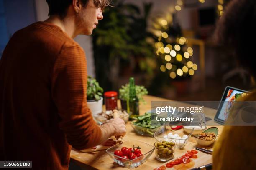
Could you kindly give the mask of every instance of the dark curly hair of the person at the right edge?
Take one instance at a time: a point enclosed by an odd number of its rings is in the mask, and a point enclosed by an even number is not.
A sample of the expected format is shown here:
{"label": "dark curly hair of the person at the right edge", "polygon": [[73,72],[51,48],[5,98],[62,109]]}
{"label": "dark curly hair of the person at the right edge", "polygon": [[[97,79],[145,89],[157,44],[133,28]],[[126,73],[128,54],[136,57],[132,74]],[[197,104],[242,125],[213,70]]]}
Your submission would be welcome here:
{"label": "dark curly hair of the person at the right edge", "polygon": [[256,0],[232,0],[218,21],[215,36],[218,43],[228,47],[253,76],[256,42]]}

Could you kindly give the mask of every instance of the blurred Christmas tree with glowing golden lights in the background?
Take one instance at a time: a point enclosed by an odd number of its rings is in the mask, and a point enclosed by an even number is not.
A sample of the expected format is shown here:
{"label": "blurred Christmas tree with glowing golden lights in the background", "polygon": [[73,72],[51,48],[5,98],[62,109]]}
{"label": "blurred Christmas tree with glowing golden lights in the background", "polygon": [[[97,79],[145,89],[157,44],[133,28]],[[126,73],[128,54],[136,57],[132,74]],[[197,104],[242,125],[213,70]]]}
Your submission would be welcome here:
{"label": "blurred Christmas tree with glowing golden lights in the background", "polygon": [[194,75],[197,64],[190,60],[193,55],[192,47],[187,47],[187,38],[182,36],[179,23],[175,15],[169,19],[158,19],[154,23],[155,43],[159,67],[172,79],[182,80]]}

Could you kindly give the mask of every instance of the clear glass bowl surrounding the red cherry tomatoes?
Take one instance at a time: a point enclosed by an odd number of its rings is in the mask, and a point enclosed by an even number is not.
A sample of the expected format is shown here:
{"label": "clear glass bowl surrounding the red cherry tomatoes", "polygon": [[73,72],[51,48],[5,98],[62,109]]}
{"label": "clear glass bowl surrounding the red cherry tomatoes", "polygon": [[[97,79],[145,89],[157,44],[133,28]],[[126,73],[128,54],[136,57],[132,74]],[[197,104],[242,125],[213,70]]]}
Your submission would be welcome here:
{"label": "clear glass bowl surrounding the red cherry tomatoes", "polygon": [[[123,148],[124,146],[127,148],[133,148],[133,146],[135,147],[139,146],[141,148],[140,150],[143,155],[133,160],[129,160],[129,159],[114,155],[115,150],[121,150],[121,148]],[[154,150],[155,150],[155,147],[147,143],[144,143],[138,140],[126,140],[122,143],[118,143],[108,148],[106,152],[117,164],[128,167],[128,168],[135,168],[143,164],[154,152]]]}

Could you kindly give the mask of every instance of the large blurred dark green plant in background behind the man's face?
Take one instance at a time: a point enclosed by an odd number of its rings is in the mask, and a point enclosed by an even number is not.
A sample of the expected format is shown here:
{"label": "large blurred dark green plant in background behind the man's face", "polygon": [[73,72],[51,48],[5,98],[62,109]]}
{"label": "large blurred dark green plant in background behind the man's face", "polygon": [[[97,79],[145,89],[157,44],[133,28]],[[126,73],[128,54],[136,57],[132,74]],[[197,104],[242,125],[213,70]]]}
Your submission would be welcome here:
{"label": "large blurred dark green plant in background behind the man's face", "polygon": [[152,4],[143,4],[143,9],[124,0],[112,4],[92,34],[95,74],[105,90],[117,89],[118,76],[126,70],[150,80],[156,69],[154,35],[147,29]]}

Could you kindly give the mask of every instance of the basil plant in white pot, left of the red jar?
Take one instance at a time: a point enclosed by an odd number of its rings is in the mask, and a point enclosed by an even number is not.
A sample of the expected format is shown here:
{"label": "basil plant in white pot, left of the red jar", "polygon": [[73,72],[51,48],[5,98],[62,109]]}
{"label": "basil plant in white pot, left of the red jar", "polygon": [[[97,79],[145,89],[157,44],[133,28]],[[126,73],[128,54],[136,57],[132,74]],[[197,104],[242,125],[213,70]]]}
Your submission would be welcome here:
{"label": "basil plant in white pot, left of the red jar", "polygon": [[102,112],[103,89],[95,78],[87,77],[87,105],[92,111],[92,115]]}

